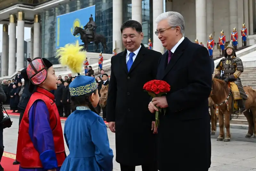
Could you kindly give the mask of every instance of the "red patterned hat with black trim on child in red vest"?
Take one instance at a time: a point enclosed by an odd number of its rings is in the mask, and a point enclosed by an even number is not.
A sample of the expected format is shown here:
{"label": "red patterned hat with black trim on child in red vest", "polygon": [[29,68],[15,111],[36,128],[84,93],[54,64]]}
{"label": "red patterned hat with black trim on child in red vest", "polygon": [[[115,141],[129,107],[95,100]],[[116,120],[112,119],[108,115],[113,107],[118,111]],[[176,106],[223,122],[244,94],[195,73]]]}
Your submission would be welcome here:
{"label": "red patterned hat with black trim on child in red vest", "polygon": [[37,57],[34,60],[28,59],[27,75],[33,85],[39,85],[47,77],[47,70],[52,63],[45,58]]}

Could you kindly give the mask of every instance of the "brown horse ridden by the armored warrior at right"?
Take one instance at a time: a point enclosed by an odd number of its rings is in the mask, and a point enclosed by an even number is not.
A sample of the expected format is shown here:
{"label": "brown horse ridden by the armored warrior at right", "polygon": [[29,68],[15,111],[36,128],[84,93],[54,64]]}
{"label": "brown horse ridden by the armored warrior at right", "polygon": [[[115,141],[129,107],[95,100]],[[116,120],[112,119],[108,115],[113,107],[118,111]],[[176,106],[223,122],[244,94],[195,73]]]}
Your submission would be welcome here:
{"label": "brown horse ridden by the armored warrior at right", "polygon": [[[248,99],[245,101],[245,108],[247,109],[244,112],[245,117],[249,123],[249,130],[246,134],[246,138],[256,138],[256,92],[252,87],[245,86],[244,91],[248,96]],[[224,138],[224,117],[225,117],[225,127],[226,127],[226,137],[224,141],[230,141],[230,123],[229,118],[233,113],[232,111],[232,100],[233,96],[231,89],[228,84],[220,79],[212,79],[212,92],[210,97],[212,98],[213,103],[215,104],[215,113],[219,117],[219,127],[220,135],[217,138],[217,141],[222,141]]]}

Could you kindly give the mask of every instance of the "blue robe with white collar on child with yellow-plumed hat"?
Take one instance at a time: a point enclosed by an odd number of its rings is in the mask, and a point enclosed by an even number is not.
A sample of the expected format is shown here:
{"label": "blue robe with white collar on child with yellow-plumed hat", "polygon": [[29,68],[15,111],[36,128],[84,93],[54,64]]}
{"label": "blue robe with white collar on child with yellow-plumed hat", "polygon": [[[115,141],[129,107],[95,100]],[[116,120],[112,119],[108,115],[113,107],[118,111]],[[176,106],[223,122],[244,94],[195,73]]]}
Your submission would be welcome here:
{"label": "blue robe with white collar on child with yellow-plumed hat", "polygon": [[69,155],[60,171],[112,171],[113,151],[103,119],[88,107],[68,116],[64,138]]}

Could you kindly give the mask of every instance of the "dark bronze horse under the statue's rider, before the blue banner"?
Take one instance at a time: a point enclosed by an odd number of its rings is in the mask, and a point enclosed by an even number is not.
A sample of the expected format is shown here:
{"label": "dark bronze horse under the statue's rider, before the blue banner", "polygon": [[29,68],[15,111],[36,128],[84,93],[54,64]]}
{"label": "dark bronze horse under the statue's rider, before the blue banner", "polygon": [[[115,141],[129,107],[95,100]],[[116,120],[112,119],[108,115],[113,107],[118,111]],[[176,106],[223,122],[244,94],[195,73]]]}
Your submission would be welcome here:
{"label": "dark bronze horse under the statue's rider, before the blue banner", "polygon": [[97,52],[99,48],[99,43],[101,43],[101,45],[103,46],[103,49],[104,49],[103,53],[105,53],[105,50],[108,48],[106,38],[102,34],[94,33],[94,39],[93,39],[91,38],[91,36],[86,34],[83,28],[76,26],[73,35],[76,36],[77,34],[80,35],[80,39],[84,43],[84,49],[86,51],[88,51],[88,44],[90,42],[94,42],[94,44],[96,45],[95,52]]}

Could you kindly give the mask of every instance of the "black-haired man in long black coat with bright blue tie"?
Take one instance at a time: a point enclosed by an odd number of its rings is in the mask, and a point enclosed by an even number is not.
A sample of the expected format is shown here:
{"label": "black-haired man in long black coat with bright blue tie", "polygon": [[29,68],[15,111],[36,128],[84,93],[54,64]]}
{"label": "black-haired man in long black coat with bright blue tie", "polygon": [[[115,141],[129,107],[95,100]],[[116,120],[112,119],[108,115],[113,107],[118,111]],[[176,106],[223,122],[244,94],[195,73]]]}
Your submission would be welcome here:
{"label": "black-haired man in long black coat with bright blue tie", "polygon": [[145,48],[142,26],[129,20],[121,26],[126,49],[111,58],[107,122],[116,133],[116,161],[121,171],[157,171],[154,115],[148,111],[150,96],[143,85],[156,78],[161,53]]}

